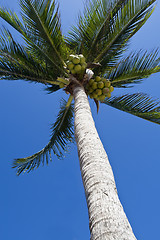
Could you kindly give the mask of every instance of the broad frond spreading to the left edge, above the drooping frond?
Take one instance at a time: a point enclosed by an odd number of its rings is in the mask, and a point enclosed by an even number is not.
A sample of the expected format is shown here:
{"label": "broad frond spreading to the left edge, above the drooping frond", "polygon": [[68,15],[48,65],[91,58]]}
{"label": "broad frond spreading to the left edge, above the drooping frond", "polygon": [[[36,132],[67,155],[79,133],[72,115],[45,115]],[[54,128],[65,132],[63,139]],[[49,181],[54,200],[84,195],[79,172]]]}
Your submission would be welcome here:
{"label": "broad frond spreading to the left edge, above the drooping frond", "polygon": [[[0,79],[26,80],[58,85],[56,75],[45,62],[34,58],[24,46],[16,43],[12,34],[4,29],[0,36]],[[53,85],[53,86],[54,86]],[[59,89],[59,86],[56,88]]]}

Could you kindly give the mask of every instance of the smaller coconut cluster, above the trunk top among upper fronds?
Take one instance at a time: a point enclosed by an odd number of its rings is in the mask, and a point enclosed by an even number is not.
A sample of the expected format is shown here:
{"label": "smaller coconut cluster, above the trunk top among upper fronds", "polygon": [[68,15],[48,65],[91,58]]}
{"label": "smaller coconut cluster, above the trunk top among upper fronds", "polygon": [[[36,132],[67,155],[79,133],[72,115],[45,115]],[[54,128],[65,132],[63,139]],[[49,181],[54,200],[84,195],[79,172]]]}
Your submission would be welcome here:
{"label": "smaller coconut cluster, above the trunk top among upper fronds", "polygon": [[85,69],[87,67],[86,59],[82,54],[80,55],[71,54],[66,64],[67,64],[68,70],[73,75],[84,74]]}

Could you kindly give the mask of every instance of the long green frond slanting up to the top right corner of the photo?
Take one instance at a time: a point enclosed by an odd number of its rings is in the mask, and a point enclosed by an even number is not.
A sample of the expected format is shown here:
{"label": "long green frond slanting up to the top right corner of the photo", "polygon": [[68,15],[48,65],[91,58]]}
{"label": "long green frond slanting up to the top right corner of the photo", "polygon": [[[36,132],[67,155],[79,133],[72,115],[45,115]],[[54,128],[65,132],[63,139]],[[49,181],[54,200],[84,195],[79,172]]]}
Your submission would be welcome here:
{"label": "long green frond slanting up to the top right corner of the photo", "polygon": [[128,40],[144,25],[153,12],[155,0],[126,1],[110,19],[109,29],[101,42],[100,53],[95,61],[109,63],[113,53],[116,56],[127,47]]}

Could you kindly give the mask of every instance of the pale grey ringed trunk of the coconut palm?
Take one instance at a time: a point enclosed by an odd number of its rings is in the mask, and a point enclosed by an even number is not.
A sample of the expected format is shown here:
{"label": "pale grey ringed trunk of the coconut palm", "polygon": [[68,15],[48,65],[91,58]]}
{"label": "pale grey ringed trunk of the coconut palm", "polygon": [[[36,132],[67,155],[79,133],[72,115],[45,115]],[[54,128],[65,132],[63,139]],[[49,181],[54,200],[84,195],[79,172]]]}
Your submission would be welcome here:
{"label": "pale grey ringed trunk of the coconut palm", "polygon": [[91,240],[136,240],[117,195],[107,154],[98,136],[87,95],[73,90],[75,138],[89,212]]}

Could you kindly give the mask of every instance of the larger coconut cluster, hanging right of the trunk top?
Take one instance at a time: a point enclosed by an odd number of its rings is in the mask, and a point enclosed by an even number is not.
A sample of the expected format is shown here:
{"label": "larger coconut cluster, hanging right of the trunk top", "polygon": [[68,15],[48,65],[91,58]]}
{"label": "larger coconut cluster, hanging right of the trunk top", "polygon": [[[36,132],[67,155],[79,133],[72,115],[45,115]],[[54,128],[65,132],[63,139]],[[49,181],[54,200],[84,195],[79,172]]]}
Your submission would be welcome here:
{"label": "larger coconut cluster, hanging right of the trunk top", "polygon": [[114,87],[111,82],[106,78],[96,76],[95,79],[91,78],[86,86],[86,90],[90,98],[103,101],[106,97],[111,97]]}

